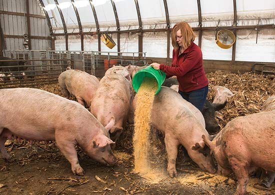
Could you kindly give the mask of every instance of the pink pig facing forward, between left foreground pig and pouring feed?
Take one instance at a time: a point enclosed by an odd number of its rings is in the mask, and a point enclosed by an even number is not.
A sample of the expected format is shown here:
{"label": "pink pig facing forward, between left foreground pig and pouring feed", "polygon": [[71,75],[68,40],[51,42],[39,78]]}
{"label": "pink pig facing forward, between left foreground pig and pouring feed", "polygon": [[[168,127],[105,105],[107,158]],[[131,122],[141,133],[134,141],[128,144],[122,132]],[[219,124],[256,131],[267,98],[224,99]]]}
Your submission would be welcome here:
{"label": "pink pig facing forward, between left foreground pig and pouring feed", "polygon": [[115,124],[109,131],[110,138],[115,142],[128,119],[132,93],[131,84],[124,76],[107,74],[100,80],[91,102],[90,112],[102,125],[106,125],[112,117],[115,119]]}

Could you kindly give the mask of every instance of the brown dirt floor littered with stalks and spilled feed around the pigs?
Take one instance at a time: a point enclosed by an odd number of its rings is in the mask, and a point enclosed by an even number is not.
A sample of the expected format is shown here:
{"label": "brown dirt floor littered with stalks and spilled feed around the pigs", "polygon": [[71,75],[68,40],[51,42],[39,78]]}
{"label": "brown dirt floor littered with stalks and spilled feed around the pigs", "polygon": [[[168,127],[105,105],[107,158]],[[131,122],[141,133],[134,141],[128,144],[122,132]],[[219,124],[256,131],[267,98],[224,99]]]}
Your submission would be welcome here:
{"label": "brown dirt floor littered with stalks and spilled feed around the pigs", "polygon": [[[208,75],[208,78],[210,76]],[[251,77],[251,75],[248,76]],[[234,81],[231,74],[228,77],[230,77],[230,81],[226,82]],[[223,75],[220,82],[210,77],[209,81],[212,80],[215,85],[222,85],[222,79],[225,80],[226,77]],[[266,85],[272,86],[272,84],[268,84],[269,80],[265,81],[267,82]],[[253,81],[251,82],[253,84]],[[258,82],[255,80],[254,83]],[[254,86],[252,84],[251,86]],[[61,95],[57,84],[43,85],[39,88]],[[260,90],[259,87],[255,87],[255,89]],[[255,98],[252,99],[257,104],[247,113],[254,113],[259,110],[263,101],[274,92],[272,87],[268,90],[262,95],[260,101]],[[237,89],[233,89],[233,93],[236,94]],[[239,102],[246,104],[246,102],[241,101],[242,96],[246,98],[247,102],[250,101],[247,100],[251,97],[249,90],[243,87],[240,93],[240,96],[235,95]],[[210,97],[212,95],[210,92]],[[236,111],[225,109],[218,113],[219,124],[223,127],[227,121],[235,117],[235,113],[238,113],[239,116],[245,115],[241,109],[242,104],[235,102],[235,100],[229,101],[227,106],[229,108],[236,107]],[[248,107],[252,104],[253,102],[250,102]],[[182,147],[179,149],[176,164],[178,176],[173,179],[169,178],[165,169],[167,161],[163,137],[161,138],[161,136],[155,142],[157,147],[150,151],[153,171],[146,175],[134,173],[131,146],[132,123],[127,124],[126,131],[121,138],[122,141],[114,151],[119,159],[114,167],[102,166],[89,159],[80,148],[77,149],[79,163],[85,171],[84,176],[73,176],[70,164],[62,156],[54,142],[48,144],[40,142],[30,145],[22,140],[7,141],[5,147],[11,160],[5,162],[0,159],[0,195],[232,195],[234,193],[236,182],[233,175],[226,178],[200,171],[184,155]],[[271,186],[271,189],[262,189],[257,185],[257,182],[258,180],[253,178],[249,180],[245,195],[275,195],[275,184]]]}

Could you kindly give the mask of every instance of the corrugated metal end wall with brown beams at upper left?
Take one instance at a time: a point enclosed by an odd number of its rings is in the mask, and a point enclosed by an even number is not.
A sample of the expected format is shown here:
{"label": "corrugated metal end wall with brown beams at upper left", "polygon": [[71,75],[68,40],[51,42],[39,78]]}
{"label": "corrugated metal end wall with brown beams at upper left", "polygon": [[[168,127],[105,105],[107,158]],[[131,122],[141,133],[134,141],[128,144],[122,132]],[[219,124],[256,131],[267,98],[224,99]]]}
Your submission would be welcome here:
{"label": "corrugated metal end wall with brown beams at upper left", "polygon": [[[29,14],[44,16],[36,0],[28,0]],[[14,13],[11,13],[14,12]],[[26,0],[0,0],[0,24],[4,34],[5,49],[24,49],[23,34],[27,33]],[[23,14],[22,14],[23,13]],[[32,50],[46,50],[51,47],[46,18],[29,17]],[[17,35],[17,37],[14,35]],[[40,37],[37,37],[40,36]]]}

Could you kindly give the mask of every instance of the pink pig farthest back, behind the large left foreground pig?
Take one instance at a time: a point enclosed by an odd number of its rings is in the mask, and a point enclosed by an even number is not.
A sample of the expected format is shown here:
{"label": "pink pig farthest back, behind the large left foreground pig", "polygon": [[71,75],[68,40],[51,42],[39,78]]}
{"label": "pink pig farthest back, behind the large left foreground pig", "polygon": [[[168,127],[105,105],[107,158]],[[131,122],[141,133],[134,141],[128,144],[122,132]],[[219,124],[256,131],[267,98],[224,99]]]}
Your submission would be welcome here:
{"label": "pink pig farthest back, behind the large left foreground pig", "polygon": [[69,98],[69,94],[76,97],[77,102],[81,105],[90,107],[90,102],[99,85],[98,79],[81,70],[66,70],[58,77],[58,83],[61,92],[65,98]]}

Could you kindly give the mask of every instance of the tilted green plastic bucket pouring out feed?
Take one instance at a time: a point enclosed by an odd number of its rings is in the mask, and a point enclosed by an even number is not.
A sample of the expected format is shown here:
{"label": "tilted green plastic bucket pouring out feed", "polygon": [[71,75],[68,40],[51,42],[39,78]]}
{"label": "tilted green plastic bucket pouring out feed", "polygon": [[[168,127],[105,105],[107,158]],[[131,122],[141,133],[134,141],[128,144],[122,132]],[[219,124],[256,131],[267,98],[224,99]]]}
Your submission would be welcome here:
{"label": "tilted green plastic bucket pouring out feed", "polygon": [[138,70],[132,78],[132,87],[136,93],[137,93],[144,77],[149,77],[149,78],[153,78],[156,80],[157,90],[156,90],[155,94],[157,94],[160,90],[162,83],[164,82],[164,80],[166,78],[166,74],[164,72],[162,72],[161,70],[155,70],[151,66],[148,66],[146,68]]}

